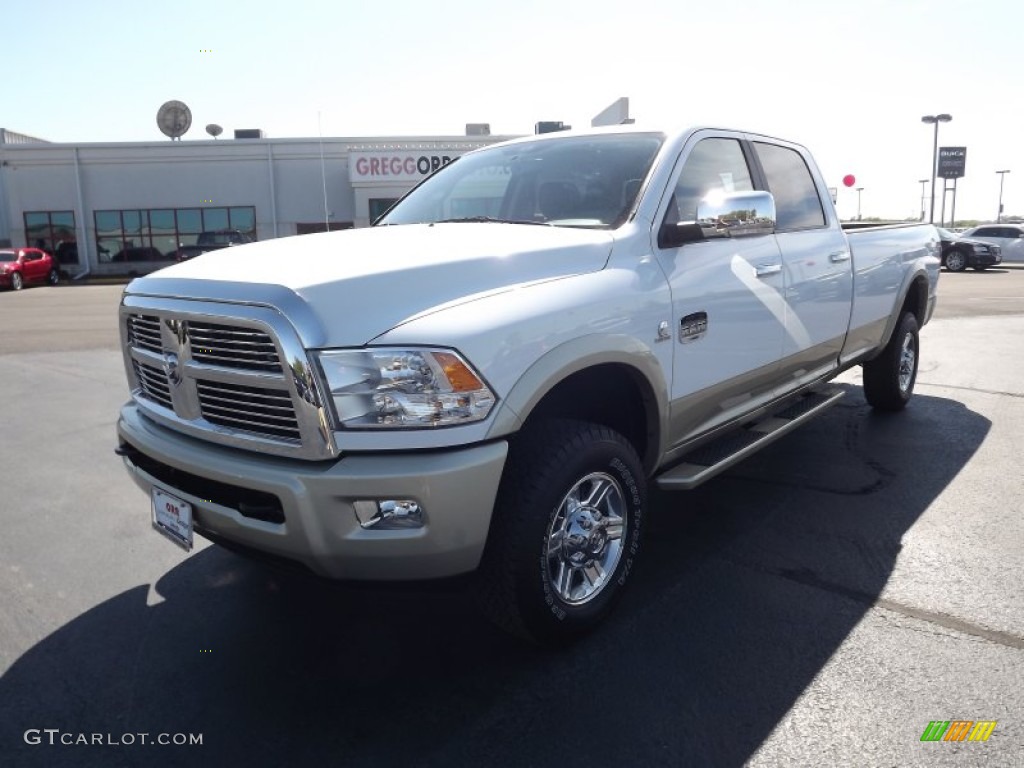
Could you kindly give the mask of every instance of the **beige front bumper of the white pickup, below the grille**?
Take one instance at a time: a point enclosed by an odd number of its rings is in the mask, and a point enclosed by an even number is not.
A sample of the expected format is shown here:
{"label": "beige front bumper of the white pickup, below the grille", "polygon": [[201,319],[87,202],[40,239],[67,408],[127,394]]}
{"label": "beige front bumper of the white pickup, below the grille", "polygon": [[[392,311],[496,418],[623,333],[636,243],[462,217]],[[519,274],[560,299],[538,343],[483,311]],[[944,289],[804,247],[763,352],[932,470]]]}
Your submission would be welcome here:
{"label": "beige front bumper of the white pickup, below the grille", "polygon": [[[508,443],[498,440],[333,462],[285,459],[179,434],[132,402],[117,429],[135,483],[191,504],[197,534],[330,579],[439,579],[476,568],[508,455]],[[362,528],[354,502],[385,499],[417,501],[425,524]]]}

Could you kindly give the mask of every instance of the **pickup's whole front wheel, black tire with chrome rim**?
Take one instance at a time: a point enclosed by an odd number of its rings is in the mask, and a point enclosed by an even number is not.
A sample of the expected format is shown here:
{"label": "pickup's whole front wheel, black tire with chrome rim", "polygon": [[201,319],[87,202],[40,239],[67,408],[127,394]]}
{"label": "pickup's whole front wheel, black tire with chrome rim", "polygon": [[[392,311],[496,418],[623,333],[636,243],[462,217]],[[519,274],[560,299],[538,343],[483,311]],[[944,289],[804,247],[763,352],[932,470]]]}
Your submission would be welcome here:
{"label": "pickup's whole front wheel, black tire with chrome rim", "polygon": [[[599,501],[573,505],[570,492]],[[561,419],[527,426],[495,504],[478,572],[482,612],[541,645],[593,629],[636,566],[646,504],[640,460],[617,432]]]}

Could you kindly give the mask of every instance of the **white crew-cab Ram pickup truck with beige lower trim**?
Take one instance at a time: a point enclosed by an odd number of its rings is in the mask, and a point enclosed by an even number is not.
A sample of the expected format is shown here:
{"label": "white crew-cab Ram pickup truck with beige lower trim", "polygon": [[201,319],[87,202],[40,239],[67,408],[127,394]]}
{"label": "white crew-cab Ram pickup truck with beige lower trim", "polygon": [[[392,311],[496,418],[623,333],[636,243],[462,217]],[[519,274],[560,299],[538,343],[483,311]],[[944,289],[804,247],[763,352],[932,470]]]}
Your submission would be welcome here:
{"label": "white crew-cab Ram pickup truck with beige lower trim", "polygon": [[929,224],[845,233],[810,155],[636,128],[471,153],[375,226],[132,282],[118,453],[152,520],[332,579],[475,572],[536,641],[590,629],[646,488],[690,488],[842,395],[913,390]]}

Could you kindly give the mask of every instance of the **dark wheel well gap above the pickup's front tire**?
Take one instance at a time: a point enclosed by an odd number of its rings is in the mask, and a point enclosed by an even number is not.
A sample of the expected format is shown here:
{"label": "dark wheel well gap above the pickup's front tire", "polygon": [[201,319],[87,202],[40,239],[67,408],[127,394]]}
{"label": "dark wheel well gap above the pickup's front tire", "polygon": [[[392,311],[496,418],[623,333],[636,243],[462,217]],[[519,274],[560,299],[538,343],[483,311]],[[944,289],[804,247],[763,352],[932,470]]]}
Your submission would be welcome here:
{"label": "dark wheel well gap above the pickup's front tire", "polygon": [[636,369],[607,364],[568,376],[541,398],[526,423],[550,418],[609,427],[632,443],[644,471],[653,469],[660,438],[657,401]]}

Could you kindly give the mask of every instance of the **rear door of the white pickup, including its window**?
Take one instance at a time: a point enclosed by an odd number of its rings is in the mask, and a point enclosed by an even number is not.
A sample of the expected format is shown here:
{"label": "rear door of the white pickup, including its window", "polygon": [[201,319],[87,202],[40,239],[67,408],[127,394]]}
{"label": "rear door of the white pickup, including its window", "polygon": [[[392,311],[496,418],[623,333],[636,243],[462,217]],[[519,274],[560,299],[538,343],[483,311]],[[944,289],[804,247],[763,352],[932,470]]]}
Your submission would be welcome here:
{"label": "rear door of the white pickup, including its window", "polygon": [[785,335],[780,391],[839,365],[853,302],[853,262],[846,236],[796,145],[755,139],[754,152],[775,198],[775,239],[785,270]]}

